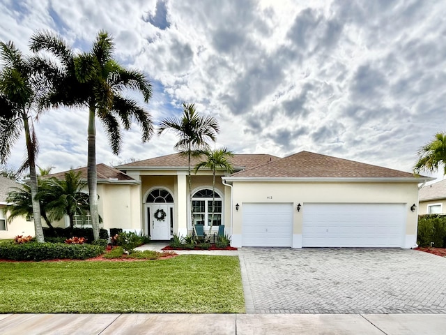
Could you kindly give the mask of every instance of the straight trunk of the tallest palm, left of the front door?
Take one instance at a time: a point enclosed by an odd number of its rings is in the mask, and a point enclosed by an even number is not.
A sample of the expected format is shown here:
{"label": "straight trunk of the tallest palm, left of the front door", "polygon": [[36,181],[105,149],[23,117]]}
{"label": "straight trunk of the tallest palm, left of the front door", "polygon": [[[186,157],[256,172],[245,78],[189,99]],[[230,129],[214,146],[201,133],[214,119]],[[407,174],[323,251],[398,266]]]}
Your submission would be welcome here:
{"label": "straight trunk of the tallest palm, left of the front door", "polygon": [[89,184],[90,215],[93,237],[99,239],[99,214],[98,214],[98,174],[96,172],[96,127],[95,127],[95,105],[90,102],[89,106],[89,151],[87,162],[87,179]]}

